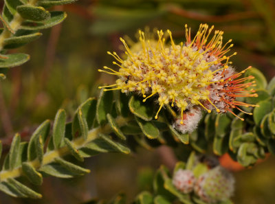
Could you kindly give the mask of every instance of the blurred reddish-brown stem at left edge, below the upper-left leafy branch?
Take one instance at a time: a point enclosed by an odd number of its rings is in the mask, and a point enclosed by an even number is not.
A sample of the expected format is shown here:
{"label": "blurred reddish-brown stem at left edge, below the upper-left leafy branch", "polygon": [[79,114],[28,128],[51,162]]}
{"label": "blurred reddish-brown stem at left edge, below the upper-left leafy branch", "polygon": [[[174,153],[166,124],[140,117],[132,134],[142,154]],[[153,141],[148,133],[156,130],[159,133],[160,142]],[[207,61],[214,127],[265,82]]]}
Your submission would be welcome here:
{"label": "blurred reddish-brown stem at left edge, below the upper-left leafy branch", "polygon": [[3,130],[5,131],[5,135],[12,135],[13,133],[12,122],[10,120],[8,109],[5,106],[5,100],[3,98],[3,91],[2,91],[1,84],[0,84],[0,117],[1,117]]}

